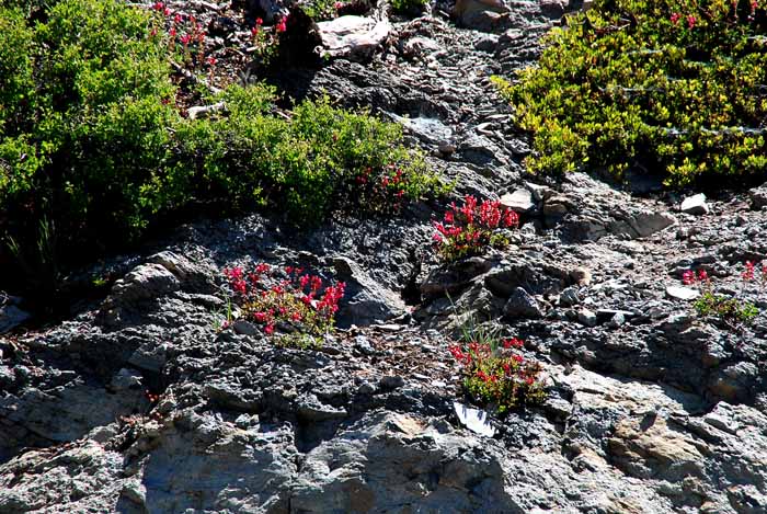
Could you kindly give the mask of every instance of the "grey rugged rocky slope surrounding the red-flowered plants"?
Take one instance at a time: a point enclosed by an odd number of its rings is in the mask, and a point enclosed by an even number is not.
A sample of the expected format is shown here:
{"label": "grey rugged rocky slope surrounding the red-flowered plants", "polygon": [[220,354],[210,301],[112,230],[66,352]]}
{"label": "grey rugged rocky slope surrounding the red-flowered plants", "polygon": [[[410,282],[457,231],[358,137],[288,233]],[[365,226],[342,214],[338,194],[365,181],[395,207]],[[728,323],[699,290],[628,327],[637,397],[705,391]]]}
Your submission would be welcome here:
{"label": "grey rugged rocky slope surrounding the red-flowered plants", "polygon": [[[0,340],[0,512],[767,512],[767,295],[740,281],[767,259],[767,193],[687,214],[652,183],[526,175],[488,77],[534,61],[564,10],[437,3],[362,61],[275,79],[404,124],[457,194],[522,213],[510,248],[440,266],[440,206],[417,205],[302,233],[198,222],[115,259],[105,300]],[[321,351],[218,330],[221,270],[250,262],[346,281],[343,330]],[[673,288],[689,269],[762,313],[697,317]],[[523,338],[547,376],[546,403],[492,436],[454,406],[446,349],[468,318]]]}

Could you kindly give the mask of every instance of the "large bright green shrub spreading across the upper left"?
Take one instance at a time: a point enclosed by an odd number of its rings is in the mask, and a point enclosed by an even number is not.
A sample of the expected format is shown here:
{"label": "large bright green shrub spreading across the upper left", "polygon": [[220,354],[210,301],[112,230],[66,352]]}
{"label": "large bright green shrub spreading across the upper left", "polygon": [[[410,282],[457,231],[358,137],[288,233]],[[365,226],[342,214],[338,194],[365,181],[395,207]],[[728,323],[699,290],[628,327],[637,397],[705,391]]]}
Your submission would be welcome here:
{"label": "large bright green shrub spreading across the upper left", "polygon": [[[352,190],[360,173],[382,175],[388,164],[407,176],[398,198],[438,187],[398,126],[328,100],[285,117],[271,89],[233,87],[209,99],[224,101],[224,113],[182,117],[172,48],[151,34],[159,14],[147,9],[15,3],[24,9],[0,7],[0,238],[12,237],[20,254],[36,248],[44,219],[59,247],[99,251],[199,206],[274,206],[313,224],[340,208],[381,210]],[[2,247],[0,263],[10,256]]]}

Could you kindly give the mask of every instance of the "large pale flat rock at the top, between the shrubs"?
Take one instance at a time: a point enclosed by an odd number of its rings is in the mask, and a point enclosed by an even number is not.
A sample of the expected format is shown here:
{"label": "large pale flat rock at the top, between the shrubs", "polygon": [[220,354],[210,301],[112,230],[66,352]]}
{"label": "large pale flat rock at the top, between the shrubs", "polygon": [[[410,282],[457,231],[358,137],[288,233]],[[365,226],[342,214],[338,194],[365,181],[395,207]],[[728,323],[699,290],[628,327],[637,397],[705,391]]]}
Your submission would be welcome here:
{"label": "large pale flat rock at the top, between the shrubs", "polygon": [[341,16],[317,24],[327,54],[350,60],[368,59],[391,32],[387,20]]}

